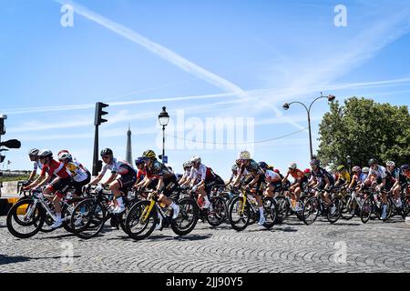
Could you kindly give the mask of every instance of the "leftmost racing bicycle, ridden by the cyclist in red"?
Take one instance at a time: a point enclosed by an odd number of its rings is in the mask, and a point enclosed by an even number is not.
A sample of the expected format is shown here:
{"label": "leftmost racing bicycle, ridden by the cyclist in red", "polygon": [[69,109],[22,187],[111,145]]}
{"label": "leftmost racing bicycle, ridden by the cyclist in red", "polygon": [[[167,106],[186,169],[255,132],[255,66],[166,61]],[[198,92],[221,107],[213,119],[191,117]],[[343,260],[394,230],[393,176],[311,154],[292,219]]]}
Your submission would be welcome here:
{"label": "leftmost racing bicycle, ridden by the cyclist in red", "polygon": [[[72,211],[76,203],[83,198],[67,198],[64,197],[61,200],[61,219],[63,221],[63,227],[70,233],[73,229],[70,227],[69,221]],[[14,206],[10,208],[6,217],[6,225],[8,231],[18,238],[29,238],[35,236],[39,231],[48,232],[54,229],[46,230],[42,227],[51,225],[56,221],[56,214],[54,212],[54,206],[51,201],[48,201],[43,195],[41,190],[32,191],[30,196],[17,201]],[[22,230],[32,226],[34,229],[28,233],[20,231],[18,226],[22,226]]]}

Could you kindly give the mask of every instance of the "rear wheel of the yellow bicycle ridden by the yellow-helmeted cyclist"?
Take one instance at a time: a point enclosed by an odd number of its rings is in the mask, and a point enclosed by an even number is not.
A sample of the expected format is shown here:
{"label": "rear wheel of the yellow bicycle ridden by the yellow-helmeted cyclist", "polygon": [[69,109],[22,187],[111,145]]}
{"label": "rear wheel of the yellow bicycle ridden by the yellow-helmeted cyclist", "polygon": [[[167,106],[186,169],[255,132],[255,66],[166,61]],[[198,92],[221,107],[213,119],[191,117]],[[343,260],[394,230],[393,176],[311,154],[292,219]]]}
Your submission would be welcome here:
{"label": "rear wheel of the yellow bicycle ridden by the yellow-helmeted cyclist", "polygon": [[178,236],[186,236],[197,225],[200,216],[198,206],[192,198],[180,199],[178,205],[179,215],[177,218],[172,219],[170,226]]}

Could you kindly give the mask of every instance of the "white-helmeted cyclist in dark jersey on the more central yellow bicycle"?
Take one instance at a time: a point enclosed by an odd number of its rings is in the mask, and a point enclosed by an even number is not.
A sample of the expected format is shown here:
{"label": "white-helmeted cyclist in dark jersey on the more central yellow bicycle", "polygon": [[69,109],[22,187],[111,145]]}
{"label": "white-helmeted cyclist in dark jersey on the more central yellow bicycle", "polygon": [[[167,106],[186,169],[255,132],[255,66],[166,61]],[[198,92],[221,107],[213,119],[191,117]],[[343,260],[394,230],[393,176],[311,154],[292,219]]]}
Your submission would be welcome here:
{"label": "white-helmeted cyclist in dark jersey on the more central yellow bicycle", "polygon": [[239,159],[241,160],[240,174],[233,181],[233,186],[239,185],[241,177],[245,175],[245,170],[247,170],[251,176],[244,181],[244,185],[248,189],[251,186],[256,186],[256,202],[258,204],[260,213],[258,226],[263,226],[266,219],[263,215],[263,204],[261,200],[263,193],[261,187],[263,183],[265,183],[265,173],[263,172],[261,167],[253,159],[251,159],[250,152],[242,151],[239,155]]}

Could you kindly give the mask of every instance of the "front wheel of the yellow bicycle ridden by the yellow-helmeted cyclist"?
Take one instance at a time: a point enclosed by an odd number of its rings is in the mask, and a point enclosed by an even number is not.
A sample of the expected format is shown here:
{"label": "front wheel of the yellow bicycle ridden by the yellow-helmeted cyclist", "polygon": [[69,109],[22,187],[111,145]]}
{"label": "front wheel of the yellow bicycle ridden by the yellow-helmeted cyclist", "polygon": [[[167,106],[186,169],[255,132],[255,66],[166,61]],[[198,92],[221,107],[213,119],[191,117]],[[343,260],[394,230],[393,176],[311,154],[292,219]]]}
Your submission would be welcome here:
{"label": "front wheel of the yellow bicycle ridden by the yellow-helmeted cyclist", "polygon": [[129,209],[125,221],[125,230],[129,237],[141,240],[148,237],[158,223],[157,206],[149,214],[150,201],[141,200]]}

